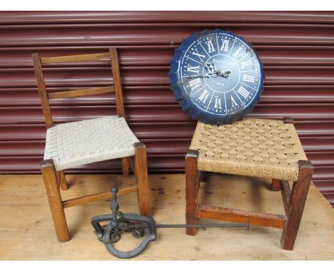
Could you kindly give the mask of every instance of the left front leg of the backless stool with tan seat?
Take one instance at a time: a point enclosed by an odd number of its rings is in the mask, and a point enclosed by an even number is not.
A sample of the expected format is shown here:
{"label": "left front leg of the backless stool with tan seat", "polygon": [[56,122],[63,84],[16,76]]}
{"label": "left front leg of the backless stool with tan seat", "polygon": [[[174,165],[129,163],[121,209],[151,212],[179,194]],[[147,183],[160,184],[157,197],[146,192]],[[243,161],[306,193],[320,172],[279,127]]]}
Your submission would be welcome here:
{"label": "left front leg of the backless stool with tan seat", "polygon": [[[196,224],[198,151],[189,150],[186,155],[186,224]],[[196,228],[187,228],[187,235],[196,235]]]}

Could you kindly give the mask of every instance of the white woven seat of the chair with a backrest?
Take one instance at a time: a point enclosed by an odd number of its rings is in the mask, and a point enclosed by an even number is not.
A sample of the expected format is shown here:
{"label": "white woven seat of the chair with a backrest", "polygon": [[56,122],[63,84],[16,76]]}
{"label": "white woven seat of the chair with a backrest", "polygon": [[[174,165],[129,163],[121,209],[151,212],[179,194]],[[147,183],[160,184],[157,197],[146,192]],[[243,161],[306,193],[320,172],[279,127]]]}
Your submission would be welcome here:
{"label": "white woven seat of the chair with a backrest", "polygon": [[135,154],[139,142],[124,117],[108,116],[55,125],[46,132],[44,159],[57,171]]}

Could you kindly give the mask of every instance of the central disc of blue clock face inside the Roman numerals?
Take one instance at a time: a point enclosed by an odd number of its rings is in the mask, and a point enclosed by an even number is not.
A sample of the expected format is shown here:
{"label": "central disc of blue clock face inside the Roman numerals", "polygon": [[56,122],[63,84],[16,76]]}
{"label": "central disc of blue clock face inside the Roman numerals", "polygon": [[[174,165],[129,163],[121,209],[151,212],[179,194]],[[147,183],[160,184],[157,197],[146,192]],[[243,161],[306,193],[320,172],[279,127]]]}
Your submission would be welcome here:
{"label": "central disc of blue clock face inside the Roman numerals", "polygon": [[228,93],[238,85],[239,68],[233,58],[226,55],[216,55],[206,61],[208,77],[206,84],[218,93]]}

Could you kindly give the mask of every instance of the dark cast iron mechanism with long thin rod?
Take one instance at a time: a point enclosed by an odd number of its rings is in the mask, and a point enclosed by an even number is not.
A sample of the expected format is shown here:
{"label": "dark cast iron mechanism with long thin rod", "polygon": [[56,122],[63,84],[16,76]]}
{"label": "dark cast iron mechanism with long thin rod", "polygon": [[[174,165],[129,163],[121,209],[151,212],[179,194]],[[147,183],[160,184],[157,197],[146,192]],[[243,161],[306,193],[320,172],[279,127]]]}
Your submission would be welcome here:
{"label": "dark cast iron mechanism with long thin rod", "polygon": [[[91,224],[95,229],[95,234],[99,241],[106,245],[106,249],[113,256],[118,258],[133,258],[139,255],[150,241],[156,240],[156,229],[176,229],[176,228],[200,228],[200,227],[247,227],[249,224],[155,224],[155,221],[150,216],[141,216],[139,214],[123,214],[118,211],[119,205],[117,202],[117,187],[111,188],[113,197],[111,199],[110,208],[112,214],[103,214],[94,216],[91,219]],[[101,226],[101,222],[109,221],[107,225]],[[131,251],[118,251],[113,244],[121,240],[121,234],[131,232],[133,237],[141,238],[143,241],[136,249]]]}

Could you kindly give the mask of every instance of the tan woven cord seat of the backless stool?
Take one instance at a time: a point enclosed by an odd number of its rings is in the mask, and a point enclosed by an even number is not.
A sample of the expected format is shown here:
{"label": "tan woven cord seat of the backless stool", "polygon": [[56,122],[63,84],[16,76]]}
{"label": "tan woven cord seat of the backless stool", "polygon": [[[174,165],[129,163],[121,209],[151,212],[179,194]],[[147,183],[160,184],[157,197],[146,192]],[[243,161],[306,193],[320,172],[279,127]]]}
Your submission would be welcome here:
{"label": "tan woven cord seat of the backless stool", "polygon": [[245,118],[233,125],[198,121],[191,141],[198,169],[295,181],[298,160],[306,160],[295,127],[280,120]]}

